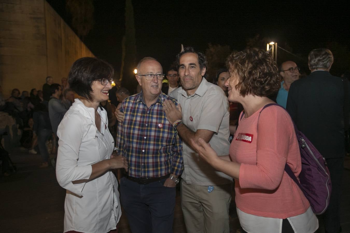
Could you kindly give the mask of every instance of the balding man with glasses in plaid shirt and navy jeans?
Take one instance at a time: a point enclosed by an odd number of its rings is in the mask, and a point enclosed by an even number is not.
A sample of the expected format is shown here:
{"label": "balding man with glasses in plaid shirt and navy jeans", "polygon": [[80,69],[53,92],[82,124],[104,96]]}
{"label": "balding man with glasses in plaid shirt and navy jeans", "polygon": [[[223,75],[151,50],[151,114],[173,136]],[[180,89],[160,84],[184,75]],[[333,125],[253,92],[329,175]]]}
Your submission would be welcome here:
{"label": "balding man with glasses in plaid shirt and navy jeans", "polygon": [[136,79],[142,90],[127,97],[120,111],[118,155],[127,158],[127,175],[120,180],[121,204],[133,233],[172,232],[175,186],[183,170],[182,142],[163,111],[162,66],[141,59]]}

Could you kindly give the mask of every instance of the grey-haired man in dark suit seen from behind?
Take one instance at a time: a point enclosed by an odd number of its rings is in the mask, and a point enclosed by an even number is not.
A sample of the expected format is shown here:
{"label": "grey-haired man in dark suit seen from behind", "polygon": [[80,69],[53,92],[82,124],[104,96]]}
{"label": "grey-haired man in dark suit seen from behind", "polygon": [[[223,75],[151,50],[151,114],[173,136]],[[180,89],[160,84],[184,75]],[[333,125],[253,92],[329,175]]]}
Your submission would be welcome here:
{"label": "grey-haired man in dark suit seen from behind", "polygon": [[341,232],[339,204],[345,155],[343,81],[329,73],[333,64],[330,50],[314,49],[308,60],[311,74],[290,85],[287,110],[297,128],[327,162],[332,192],[323,221],[326,232]]}

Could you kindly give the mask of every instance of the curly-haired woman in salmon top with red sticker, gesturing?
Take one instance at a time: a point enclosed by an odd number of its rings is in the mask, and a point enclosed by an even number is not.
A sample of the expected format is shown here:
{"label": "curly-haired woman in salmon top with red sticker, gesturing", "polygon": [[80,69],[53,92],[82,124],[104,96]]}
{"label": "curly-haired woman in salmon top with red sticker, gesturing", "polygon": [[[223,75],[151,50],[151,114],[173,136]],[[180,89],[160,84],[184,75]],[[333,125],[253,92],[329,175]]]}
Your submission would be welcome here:
{"label": "curly-haired woman in salmon top with red sticker, gesturing", "polygon": [[216,152],[199,139],[193,147],[215,169],[232,176],[241,232],[315,232],[318,220],[300,188],[285,173],[288,163],[296,177],[300,151],[288,113],[267,96],[277,92],[280,77],[265,51],[233,52],[228,60],[229,101],[241,103],[239,125],[229,155]]}

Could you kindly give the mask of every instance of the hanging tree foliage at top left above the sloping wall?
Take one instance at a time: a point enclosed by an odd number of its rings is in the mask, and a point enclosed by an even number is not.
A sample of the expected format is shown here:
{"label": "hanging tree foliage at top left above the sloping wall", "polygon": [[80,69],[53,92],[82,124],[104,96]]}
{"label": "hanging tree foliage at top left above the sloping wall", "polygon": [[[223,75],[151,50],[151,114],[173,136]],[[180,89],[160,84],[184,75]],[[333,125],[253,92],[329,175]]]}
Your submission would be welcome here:
{"label": "hanging tree foliage at top left above the sloping wall", "polygon": [[72,15],[72,26],[83,40],[93,28],[93,0],[67,0],[66,9]]}

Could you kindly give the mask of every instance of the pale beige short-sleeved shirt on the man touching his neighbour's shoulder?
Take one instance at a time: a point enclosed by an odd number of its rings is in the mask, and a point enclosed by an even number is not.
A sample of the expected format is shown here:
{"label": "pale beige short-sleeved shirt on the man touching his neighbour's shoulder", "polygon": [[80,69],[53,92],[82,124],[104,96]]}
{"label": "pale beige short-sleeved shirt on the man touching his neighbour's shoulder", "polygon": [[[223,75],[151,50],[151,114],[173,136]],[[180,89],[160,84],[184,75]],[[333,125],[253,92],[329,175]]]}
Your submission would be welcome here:
{"label": "pale beige short-sleeved shirt on the man touching his neighbour's shoulder", "polygon": [[[223,90],[204,78],[194,95],[188,96],[179,87],[170,96],[177,99],[182,108],[182,121],[192,131],[204,129],[214,132],[209,143],[216,153],[229,154],[229,101]],[[232,182],[228,175],[216,171],[183,142],[184,171],[181,175],[187,184],[218,185]]]}

